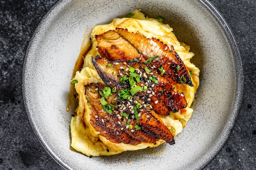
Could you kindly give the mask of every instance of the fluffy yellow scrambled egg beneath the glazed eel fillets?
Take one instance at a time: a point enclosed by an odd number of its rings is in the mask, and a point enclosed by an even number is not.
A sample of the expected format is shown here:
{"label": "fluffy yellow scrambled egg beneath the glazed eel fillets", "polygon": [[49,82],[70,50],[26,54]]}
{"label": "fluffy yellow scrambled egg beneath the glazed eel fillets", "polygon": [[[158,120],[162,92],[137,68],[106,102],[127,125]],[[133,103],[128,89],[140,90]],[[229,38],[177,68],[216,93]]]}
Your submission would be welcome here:
{"label": "fluffy yellow scrambled egg beneath the glazed eel fillets", "polygon": [[90,83],[103,83],[97,71],[94,69],[91,59],[92,56],[95,57],[96,55],[99,55],[96,49],[97,41],[94,36],[111,29],[115,30],[116,27],[128,29],[130,32],[139,31],[139,33],[143,34],[147,38],[155,37],[169,46],[173,45],[175,51],[179,54],[180,58],[182,58],[186,65],[188,72],[192,73],[191,80],[194,86],[191,87],[184,84],[173,85],[176,91],[184,92],[187,107],[177,113],[171,113],[169,116],[160,116],[160,118],[171,130],[173,136],[176,136],[186,126],[186,123],[193,114],[193,109],[190,107],[194,101],[195,93],[199,86],[198,76],[200,70],[190,62],[190,59],[194,56],[192,52],[189,52],[190,47],[177,40],[172,32],[173,29],[169,25],[158,22],[157,19],[146,17],[140,10],[133,11],[131,18],[115,18],[108,25],[97,25],[92,29],[92,48],[84,56],[83,69],[80,72],[76,72],[73,79],[78,81],[78,83],[75,84],[75,89],[78,94],[77,97],[79,99],[79,105],[75,110],[75,116],[71,119],[71,146],[76,151],[82,152],[87,156],[114,155],[127,150],[139,150],[147,147],[153,148],[164,142],[160,140],[156,145],[151,143],[141,143],[136,146],[124,143],[112,143],[105,137],[100,136],[89,123],[90,114],[88,106],[90,103],[87,103],[86,101],[84,85]]}

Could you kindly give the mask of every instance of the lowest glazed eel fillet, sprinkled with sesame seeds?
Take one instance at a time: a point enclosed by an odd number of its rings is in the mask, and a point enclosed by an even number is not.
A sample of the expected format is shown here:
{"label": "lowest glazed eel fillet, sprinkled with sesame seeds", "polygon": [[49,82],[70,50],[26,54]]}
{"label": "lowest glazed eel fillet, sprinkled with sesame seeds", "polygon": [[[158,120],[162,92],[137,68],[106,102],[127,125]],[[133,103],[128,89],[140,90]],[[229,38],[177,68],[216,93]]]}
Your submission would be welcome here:
{"label": "lowest glazed eel fillet, sprinkled with sesame seeds", "polygon": [[[112,114],[108,114],[102,109],[99,95],[99,90],[103,91],[104,85],[85,85],[85,96],[91,103],[90,108],[90,124],[95,130],[99,132],[101,136],[106,137],[109,141],[113,143],[126,143],[130,145],[138,145],[139,143],[154,143],[160,139],[166,141],[167,143],[174,144],[173,134],[170,130],[162,123],[158,115],[155,114],[153,110],[150,110],[148,106],[141,106],[138,114],[139,121],[134,118],[134,114],[130,112],[130,108],[122,107],[122,111],[130,113],[129,116],[121,116],[121,109],[118,105],[124,105],[127,101],[117,101],[115,98],[118,96],[118,92],[109,96],[106,100],[108,103],[114,104]],[[139,98],[132,98],[133,101],[141,102]],[[135,103],[129,102],[130,105]],[[128,103],[127,103],[128,104]],[[126,104],[126,105],[127,105]],[[134,105],[135,107],[135,105]],[[128,128],[127,121],[130,120],[129,125],[132,128]],[[136,130],[136,125],[140,127]]]}

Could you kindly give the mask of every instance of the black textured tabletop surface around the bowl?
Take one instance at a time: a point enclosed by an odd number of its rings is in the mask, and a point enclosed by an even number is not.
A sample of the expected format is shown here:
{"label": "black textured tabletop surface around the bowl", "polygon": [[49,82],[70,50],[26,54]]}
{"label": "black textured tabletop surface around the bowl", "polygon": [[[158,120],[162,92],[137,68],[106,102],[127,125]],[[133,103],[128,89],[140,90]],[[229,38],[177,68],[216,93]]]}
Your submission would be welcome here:
{"label": "black textured tabletop surface around the bowl", "polygon": [[[244,96],[229,140],[206,170],[256,170],[256,0],[210,0],[231,27],[244,69]],[[21,69],[29,38],[56,0],[0,0],[0,170],[62,170],[29,125]]]}

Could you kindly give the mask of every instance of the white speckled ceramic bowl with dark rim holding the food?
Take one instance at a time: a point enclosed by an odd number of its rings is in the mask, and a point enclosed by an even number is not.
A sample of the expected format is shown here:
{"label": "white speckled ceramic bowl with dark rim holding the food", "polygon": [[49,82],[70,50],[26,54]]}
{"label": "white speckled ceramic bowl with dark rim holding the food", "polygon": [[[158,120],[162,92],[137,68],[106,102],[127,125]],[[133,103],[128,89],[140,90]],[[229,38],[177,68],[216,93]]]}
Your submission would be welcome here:
{"label": "white speckled ceramic bowl with dark rim holding the food", "polygon": [[[86,157],[70,148],[71,113],[65,110],[84,33],[139,8],[149,17],[163,16],[195,53],[193,63],[201,70],[195,112],[176,144],[166,145],[159,156],[140,150]],[[191,170],[207,166],[229,138],[240,109],[243,73],[234,37],[207,0],[60,0],[43,17],[28,45],[22,92],[36,136],[67,170]]]}

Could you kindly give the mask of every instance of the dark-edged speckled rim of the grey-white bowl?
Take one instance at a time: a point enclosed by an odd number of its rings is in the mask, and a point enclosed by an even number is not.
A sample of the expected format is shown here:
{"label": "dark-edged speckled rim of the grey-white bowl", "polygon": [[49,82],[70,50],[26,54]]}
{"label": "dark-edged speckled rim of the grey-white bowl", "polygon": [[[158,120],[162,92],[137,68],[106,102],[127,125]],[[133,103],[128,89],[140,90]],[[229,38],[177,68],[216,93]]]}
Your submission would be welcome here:
{"label": "dark-edged speckled rim of the grey-white bowl", "polygon": [[[236,43],[236,40],[234,38],[234,35],[227,24],[225,18],[221,15],[221,13],[216,9],[216,7],[213,6],[209,0],[197,0],[200,2],[204,8],[206,8],[210,14],[214,17],[214,19],[218,22],[220,25],[220,29],[224,32],[229,45],[231,47],[232,54],[234,56],[235,61],[235,69],[236,69],[236,94],[234,96],[234,105],[231,110],[231,114],[229,117],[229,121],[227,125],[225,125],[225,129],[222,131],[220,138],[216,142],[213,149],[208,152],[206,155],[204,155],[197,163],[193,164],[191,168],[193,169],[203,169],[205,168],[222,150],[225,143],[229,139],[229,136],[231,135],[232,130],[234,129],[236,125],[236,121],[238,119],[238,115],[240,112],[240,107],[243,99],[243,83],[244,83],[244,76],[243,76],[243,65],[242,60],[240,57],[240,52],[238,50],[238,46]],[[29,40],[29,43],[27,45],[27,49],[25,52],[23,65],[22,65],[22,76],[21,76],[21,85],[22,85],[22,98],[23,103],[25,106],[25,111],[29,120],[29,123],[31,125],[31,128],[33,129],[38,141],[41,143],[43,148],[47,151],[47,153],[63,168],[72,170],[66,163],[64,163],[54,152],[52,152],[51,148],[47,145],[46,141],[41,136],[40,132],[38,131],[37,126],[34,124],[33,117],[31,116],[33,113],[31,112],[30,106],[29,106],[29,99],[27,98],[27,88],[26,88],[26,79],[27,79],[27,69],[29,69],[28,65],[30,64],[29,60],[29,54],[33,49],[35,49],[35,44],[37,44],[38,40],[42,37],[42,34],[45,30],[45,26],[49,25],[52,18],[54,18],[59,11],[61,11],[67,4],[72,2],[72,0],[58,0],[55,2],[52,7],[45,13],[43,18],[40,20],[36,28],[34,29],[33,34],[31,35],[31,38]]]}

